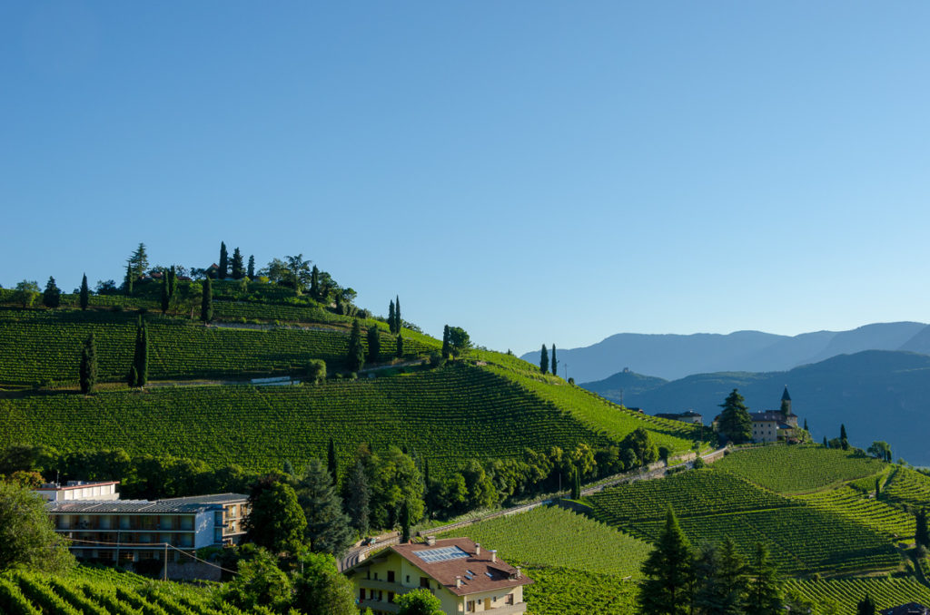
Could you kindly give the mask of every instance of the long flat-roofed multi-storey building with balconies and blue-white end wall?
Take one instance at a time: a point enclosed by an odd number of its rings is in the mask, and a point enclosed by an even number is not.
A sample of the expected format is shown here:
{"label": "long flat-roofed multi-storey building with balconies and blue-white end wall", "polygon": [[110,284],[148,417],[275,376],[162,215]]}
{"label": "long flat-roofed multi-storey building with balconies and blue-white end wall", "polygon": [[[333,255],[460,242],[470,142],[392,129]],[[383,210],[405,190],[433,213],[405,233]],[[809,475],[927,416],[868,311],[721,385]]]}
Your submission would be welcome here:
{"label": "long flat-roofed multi-storey building with balconies and blue-white end wall", "polygon": [[[237,544],[245,534],[248,496],[219,493],[166,500],[120,500],[117,481],[43,485],[35,490],[46,500],[55,531],[70,538],[71,551],[82,561],[146,566],[191,561],[207,546]],[[169,567],[173,576],[174,567]],[[213,570],[207,570],[212,573]]]}

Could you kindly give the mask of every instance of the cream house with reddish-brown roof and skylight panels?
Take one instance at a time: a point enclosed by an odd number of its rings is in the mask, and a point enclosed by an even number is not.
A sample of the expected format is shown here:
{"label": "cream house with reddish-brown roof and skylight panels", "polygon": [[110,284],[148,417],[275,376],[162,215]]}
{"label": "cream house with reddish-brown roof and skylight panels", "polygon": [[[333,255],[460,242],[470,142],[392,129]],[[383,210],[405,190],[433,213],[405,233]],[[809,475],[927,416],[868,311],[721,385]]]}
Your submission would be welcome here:
{"label": "cream house with reddish-brown roof and skylight panels", "polygon": [[483,551],[467,538],[397,544],[359,562],[345,574],[352,581],[360,609],[376,615],[396,613],[394,596],[419,587],[439,598],[443,612],[525,613],[524,585],[533,581],[498,559],[496,551]]}

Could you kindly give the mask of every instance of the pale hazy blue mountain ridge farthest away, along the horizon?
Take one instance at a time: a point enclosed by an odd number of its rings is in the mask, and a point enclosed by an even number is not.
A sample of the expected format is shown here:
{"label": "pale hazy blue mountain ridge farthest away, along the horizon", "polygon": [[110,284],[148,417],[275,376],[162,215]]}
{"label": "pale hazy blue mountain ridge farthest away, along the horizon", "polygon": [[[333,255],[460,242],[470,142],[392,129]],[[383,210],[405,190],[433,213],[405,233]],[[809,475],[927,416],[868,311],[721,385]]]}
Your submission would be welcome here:
{"label": "pale hazy blue mountain ridge farthest away, along the horizon", "polygon": [[[674,380],[694,373],[782,372],[865,350],[930,354],[930,327],[905,321],[793,336],[760,331],[615,334],[589,347],[559,348],[558,359],[559,373],[578,382],[602,380],[624,368]],[[539,353],[527,352],[522,359],[538,363]]]}

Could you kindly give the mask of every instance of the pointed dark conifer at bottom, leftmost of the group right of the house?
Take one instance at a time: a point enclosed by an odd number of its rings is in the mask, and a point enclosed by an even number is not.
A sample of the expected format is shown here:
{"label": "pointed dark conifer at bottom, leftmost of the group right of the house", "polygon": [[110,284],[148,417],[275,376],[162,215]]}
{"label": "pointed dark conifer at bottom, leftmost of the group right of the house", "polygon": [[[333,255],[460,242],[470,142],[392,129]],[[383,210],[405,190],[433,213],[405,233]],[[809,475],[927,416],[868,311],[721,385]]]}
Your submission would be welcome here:
{"label": "pointed dark conifer at bottom, leftmost of the group right of the house", "polygon": [[639,606],[649,615],[685,615],[691,602],[691,545],[675,513],[668,509],[665,529],[643,563]]}

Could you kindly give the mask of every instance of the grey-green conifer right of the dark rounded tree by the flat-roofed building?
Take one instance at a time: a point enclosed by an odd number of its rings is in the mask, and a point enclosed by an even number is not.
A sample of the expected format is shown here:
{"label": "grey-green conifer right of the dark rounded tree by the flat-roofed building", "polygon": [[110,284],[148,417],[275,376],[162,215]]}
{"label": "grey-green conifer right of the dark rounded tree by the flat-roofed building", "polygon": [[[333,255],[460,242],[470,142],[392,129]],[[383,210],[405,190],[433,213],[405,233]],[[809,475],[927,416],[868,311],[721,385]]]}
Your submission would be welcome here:
{"label": "grey-green conifer right of the dark rounded tree by the flat-roofed building", "polygon": [[352,543],[349,516],[342,512],[332,475],[319,459],[310,460],[297,486],[298,502],[307,517],[305,537],[314,553],[342,554]]}

